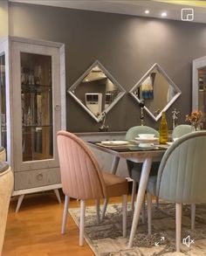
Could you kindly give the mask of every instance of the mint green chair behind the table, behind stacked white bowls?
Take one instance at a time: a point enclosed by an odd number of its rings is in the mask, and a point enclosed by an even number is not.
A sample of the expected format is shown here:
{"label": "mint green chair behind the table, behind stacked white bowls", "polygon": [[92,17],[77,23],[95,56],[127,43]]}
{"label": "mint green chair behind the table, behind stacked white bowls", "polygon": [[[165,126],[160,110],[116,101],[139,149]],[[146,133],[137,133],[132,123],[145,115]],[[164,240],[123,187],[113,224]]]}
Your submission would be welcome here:
{"label": "mint green chair behind the table, behind stacked white bowls", "polygon": [[[159,138],[159,133],[154,128],[150,128],[148,126],[134,126],[133,128],[129,128],[126,134],[126,140],[134,140],[134,138],[138,137],[139,134],[153,134],[155,137]],[[152,163],[152,170],[150,174],[156,175],[159,162]],[[129,176],[133,179],[133,190],[132,190],[132,209],[134,209],[134,197],[136,194],[137,183],[140,182],[141,179],[141,168],[142,163],[134,163],[132,161],[127,160],[127,170]]]}

